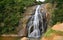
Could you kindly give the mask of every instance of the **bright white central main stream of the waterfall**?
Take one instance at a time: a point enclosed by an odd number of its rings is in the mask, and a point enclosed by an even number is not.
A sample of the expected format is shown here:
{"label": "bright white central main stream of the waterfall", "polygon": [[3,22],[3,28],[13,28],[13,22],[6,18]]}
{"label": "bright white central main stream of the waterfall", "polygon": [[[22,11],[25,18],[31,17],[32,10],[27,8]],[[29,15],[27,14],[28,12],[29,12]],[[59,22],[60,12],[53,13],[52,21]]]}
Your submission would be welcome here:
{"label": "bright white central main stream of the waterfall", "polygon": [[39,30],[39,17],[38,17],[38,10],[40,8],[40,5],[37,6],[36,11],[35,11],[35,15],[34,15],[34,20],[33,20],[33,32],[30,33],[30,35],[28,35],[29,37],[40,37],[40,30]]}

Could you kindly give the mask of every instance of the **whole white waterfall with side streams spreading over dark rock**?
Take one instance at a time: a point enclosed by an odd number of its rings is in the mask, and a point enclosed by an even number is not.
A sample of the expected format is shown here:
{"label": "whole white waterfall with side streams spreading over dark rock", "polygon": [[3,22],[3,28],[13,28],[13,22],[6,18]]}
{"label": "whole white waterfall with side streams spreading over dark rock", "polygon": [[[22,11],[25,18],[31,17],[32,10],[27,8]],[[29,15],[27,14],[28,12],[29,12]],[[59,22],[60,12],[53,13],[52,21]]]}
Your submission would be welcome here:
{"label": "whole white waterfall with side streams spreading over dark rock", "polygon": [[35,14],[32,15],[27,23],[28,37],[39,38],[44,32],[43,16],[40,12],[40,5],[37,5]]}

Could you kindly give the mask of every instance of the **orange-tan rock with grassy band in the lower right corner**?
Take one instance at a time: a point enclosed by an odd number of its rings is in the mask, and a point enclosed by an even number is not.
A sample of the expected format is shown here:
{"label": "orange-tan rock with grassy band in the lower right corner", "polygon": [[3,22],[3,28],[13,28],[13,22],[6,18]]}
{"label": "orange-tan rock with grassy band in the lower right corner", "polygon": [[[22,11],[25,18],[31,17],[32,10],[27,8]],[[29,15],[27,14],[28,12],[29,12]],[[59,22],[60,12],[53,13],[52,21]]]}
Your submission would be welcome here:
{"label": "orange-tan rock with grassy band in the lower right corner", "polygon": [[54,30],[54,32],[50,30],[51,35],[44,36],[41,40],[63,40],[63,23],[56,24],[51,29]]}

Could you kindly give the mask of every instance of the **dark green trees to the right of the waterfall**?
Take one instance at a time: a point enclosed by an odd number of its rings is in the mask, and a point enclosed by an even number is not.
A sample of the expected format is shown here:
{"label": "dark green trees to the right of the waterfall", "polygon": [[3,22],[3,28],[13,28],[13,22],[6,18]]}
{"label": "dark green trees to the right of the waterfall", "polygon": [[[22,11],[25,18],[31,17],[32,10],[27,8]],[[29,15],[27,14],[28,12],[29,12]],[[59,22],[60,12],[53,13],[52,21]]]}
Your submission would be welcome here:
{"label": "dark green trees to the right of the waterfall", "polygon": [[51,26],[55,25],[57,22],[63,22],[63,0],[46,0],[53,4],[57,4],[55,10],[52,12]]}

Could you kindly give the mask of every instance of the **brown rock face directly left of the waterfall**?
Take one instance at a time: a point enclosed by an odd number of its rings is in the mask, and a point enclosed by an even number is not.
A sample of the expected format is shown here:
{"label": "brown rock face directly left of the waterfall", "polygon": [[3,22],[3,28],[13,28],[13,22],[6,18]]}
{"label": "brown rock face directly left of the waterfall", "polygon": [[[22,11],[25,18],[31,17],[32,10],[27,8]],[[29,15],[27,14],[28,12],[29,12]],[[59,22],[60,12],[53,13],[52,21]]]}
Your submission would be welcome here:
{"label": "brown rock face directly left of the waterfall", "polygon": [[19,36],[27,36],[26,24],[27,24],[28,19],[31,16],[31,14],[33,14],[34,9],[35,9],[35,6],[28,7],[26,9],[25,13],[23,13],[23,18],[21,18],[21,20],[19,22],[19,28],[18,28]]}

